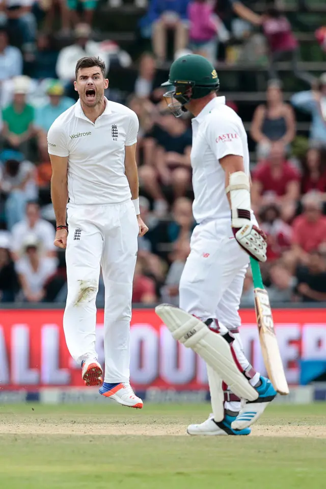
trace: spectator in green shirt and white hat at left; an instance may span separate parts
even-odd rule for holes
[[[2,112],[2,137],[5,148],[16,149],[28,156],[30,142],[34,137],[34,108],[26,104],[26,94],[29,92],[30,79],[28,76],[17,76],[14,81],[14,96],[12,104]]]

